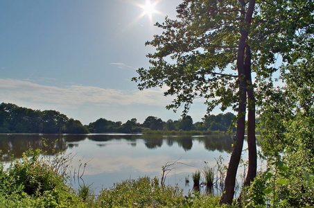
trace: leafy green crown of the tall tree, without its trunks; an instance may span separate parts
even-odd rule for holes
[[[132,80],[139,89],[169,87],[164,95],[175,98],[168,109],[184,105],[186,113],[195,98],[204,97],[209,112],[218,104],[222,110],[230,106],[236,110],[236,80],[241,82],[236,58],[241,33],[248,26],[241,11],[248,2],[183,1],[177,6],[177,19],[166,17],[163,23],[155,24],[164,31],[146,42],[156,49],[147,55],[151,67],[138,69],[139,76]],[[311,1],[256,1],[247,40],[256,73],[254,86],[270,79],[278,69],[272,64],[280,55],[290,60],[298,39],[313,30],[311,11]]]

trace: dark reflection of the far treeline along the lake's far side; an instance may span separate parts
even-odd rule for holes
[[[46,146],[43,144],[45,140]],[[1,160],[8,162],[11,155],[21,158],[28,148],[44,150],[46,155],[54,155],[60,151],[78,148],[80,141],[98,141],[97,146],[105,147],[109,141],[126,141],[132,147],[137,146],[139,139],[144,141],[146,148],[156,149],[163,145],[173,146],[177,144],[184,151],[193,148],[193,141],[202,142],[204,148],[209,151],[231,151],[232,137],[229,135],[210,135],[202,137],[163,136],[163,135],[0,135]]]

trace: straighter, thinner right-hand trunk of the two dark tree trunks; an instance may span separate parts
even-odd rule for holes
[[[251,51],[250,46],[246,46],[245,51],[245,78],[247,80],[247,148],[249,150],[249,168],[243,186],[248,186],[256,177],[257,153],[255,137],[255,97],[251,76]]]

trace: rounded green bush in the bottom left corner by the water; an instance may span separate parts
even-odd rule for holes
[[[28,150],[21,161],[0,170],[0,207],[84,207],[66,178],[59,175],[39,150]]]

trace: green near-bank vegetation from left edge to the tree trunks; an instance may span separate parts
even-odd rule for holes
[[[162,186],[157,178],[125,180],[96,197],[88,186],[71,189],[64,170],[69,155],[58,159],[28,150],[21,160],[0,169],[0,207],[216,207],[219,198],[200,193],[182,194],[179,187]],[[61,163],[60,163],[61,161]]]

